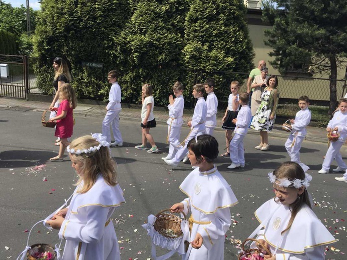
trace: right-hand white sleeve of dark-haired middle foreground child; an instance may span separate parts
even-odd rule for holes
[[[225,233],[231,224],[230,208],[220,208],[215,213],[208,214],[208,216],[212,222],[208,225],[199,225],[197,231],[201,234],[205,247],[211,249],[217,240],[225,237]]]

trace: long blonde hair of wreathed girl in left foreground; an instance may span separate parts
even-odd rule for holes
[[[84,135],[74,139],[70,143],[70,148],[82,150],[98,145],[99,142],[91,135]],[[80,176],[76,185],[80,184],[83,180],[83,186],[77,192],[86,193],[90,190],[99,174],[103,176],[105,182],[110,186],[117,184],[116,163],[110,156],[109,147],[101,146],[99,150],[91,153],[70,153],[70,155],[74,160],[82,162],[82,176]]]

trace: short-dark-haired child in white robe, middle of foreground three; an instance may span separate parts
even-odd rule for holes
[[[188,142],[188,158],[197,166],[183,180],[180,189],[188,196],[172,205],[172,212],[191,212],[190,243],[184,259],[224,259],[225,233],[231,224],[230,206],[238,203],[230,185],[213,164],[218,142],[208,134]]]

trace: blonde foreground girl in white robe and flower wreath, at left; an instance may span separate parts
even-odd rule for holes
[[[106,136],[79,137],[67,150],[79,176],[77,187],[70,205],[46,222],[66,240],[62,260],[119,260],[111,216],[125,201]]]

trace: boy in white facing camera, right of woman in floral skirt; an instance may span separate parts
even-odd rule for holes
[[[311,120],[311,111],[308,109],[308,96],[300,96],[298,101],[301,110],[296,113],[295,119],[290,119],[292,130],[284,146],[290,156],[290,161],[300,163],[301,143],[307,132],[306,126]]]

